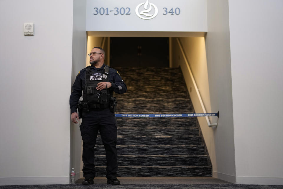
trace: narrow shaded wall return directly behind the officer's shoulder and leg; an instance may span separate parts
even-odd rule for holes
[[[78,72],[85,67],[85,54],[86,54],[86,31],[85,31],[86,9],[85,8],[86,8],[86,0],[74,0],[71,85],[73,85],[75,81],[75,77],[78,75]],[[70,169],[75,168],[76,179],[83,177],[82,145],[83,145],[83,141],[80,135],[79,124],[71,123]]]

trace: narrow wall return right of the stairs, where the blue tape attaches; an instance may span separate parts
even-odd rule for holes
[[[211,110],[219,110],[211,133],[213,177],[236,182],[228,1],[207,1],[205,38]],[[214,118],[214,121],[216,118]],[[207,143],[206,143],[207,144]],[[212,158],[213,160],[213,158]]]

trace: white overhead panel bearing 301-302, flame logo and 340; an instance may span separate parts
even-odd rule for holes
[[[86,30],[207,32],[206,0],[87,0]]]

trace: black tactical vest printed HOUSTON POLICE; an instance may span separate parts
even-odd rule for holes
[[[86,67],[85,86],[83,87],[83,102],[88,102],[89,107],[109,107],[113,91],[109,89],[96,89],[100,82],[108,82],[109,67],[93,72],[90,66]],[[98,106],[100,104],[100,106]],[[93,106],[92,106],[93,105]],[[103,106],[102,106],[103,105]]]

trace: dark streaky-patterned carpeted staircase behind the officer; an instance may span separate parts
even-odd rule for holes
[[[115,68],[127,85],[116,113],[194,113],[179,68]],[[210,159],[196,118],[116,118],[117,176],[212,176]],[[97,176],[106,174],[104,146],[98,134]]]

